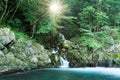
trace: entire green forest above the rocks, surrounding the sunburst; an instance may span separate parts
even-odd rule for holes
[[[57,0],[63,8],[56,15],[49,11],[50,1],[0,0],[0,25],[9,25],[46,48],[58,44],[59,33],[87,48],[83,53],[120,43],[120,0]]]

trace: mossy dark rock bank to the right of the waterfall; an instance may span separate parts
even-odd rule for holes
[[[92,48],[90,51],[87,46],[81,46],[79,42],[75,42],[75,39],[74,45],[67,52],[71,67],[120,66],[120,44],[111,44],[104,49]]]

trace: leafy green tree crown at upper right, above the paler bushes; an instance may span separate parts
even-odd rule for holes
[[[97,12],[92,6],[87,6],[78,15],[78,24],[88,30],[95,30],[95,26],[100,29],[100,26],[108,25],[108,22],[108,16],[104,12]]]

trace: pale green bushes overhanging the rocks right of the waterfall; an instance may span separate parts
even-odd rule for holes
[[[120,43],[119,29],[111,29],[108,26],[102,27],[99,32],[92,32],[81,28],[81,36],[76,36],[72,41],[81,47],[92,48],[93,50],[104,50],[111,45]]]

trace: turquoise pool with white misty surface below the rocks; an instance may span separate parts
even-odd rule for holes
[[[119,68],[48,68],[11,75],[0,80],[120,80]]]

